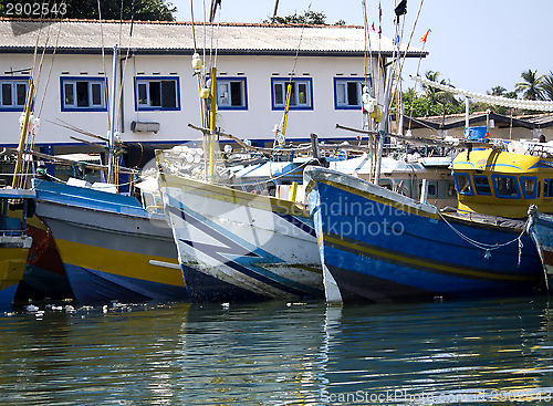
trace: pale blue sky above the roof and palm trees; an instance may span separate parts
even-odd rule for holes
[[[177,21],[190,21],[190,0],[166,0],[177,7]],[[365,0],[369,25],[378,30],[378,0]],[[380,0],[383,35],[394,35],[394,7],[399,0]],[[205,6],[204,6],[205,4]],[[420,4],[422,4],[420,7]],[[194,0],[195,21],[204,21],[204,8],[210,0]],[[221,0],[219,21],[261,22],[272,15],[274,0]],[[420,9],[418,21],[415,20]],[[362,0],[279,0],[278,15],[323,12],[327,23],[345,20],[363,25]],[[420,63],[420,74],[440,72],[440,79],[456,87],[486,93],[494,86],[513,91],[521,73],[536,70],[539,75],[553,72],[552,0],[408,0],[404,42],[414,32],[411,46],[422,48],[420,38],[431,30]],[[418,60],[404,67],[417,73]]]

